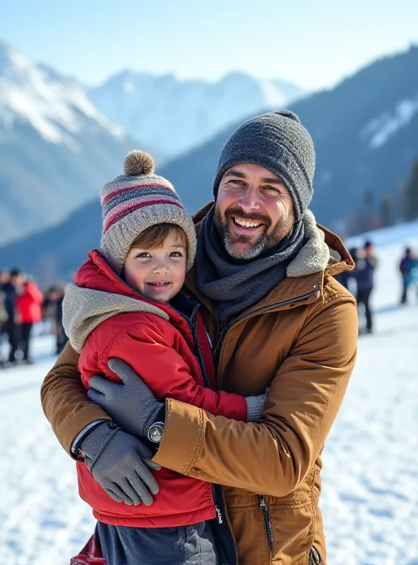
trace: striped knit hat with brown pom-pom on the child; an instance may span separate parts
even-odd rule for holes
[[[141,232],[156,224],[183,228],[189,243],[186,269],[196,256],[196,230],[191,215],[167,179],[155,174],[153,157],[145,151],[131,151],[124,162],[124,174],[107,182],[100,193],[103,232],[100,251],[118,275],[131,245]]]

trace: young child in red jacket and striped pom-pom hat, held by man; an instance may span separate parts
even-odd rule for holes
[[[95,374],[120,381],[109,368],[109,359],[118,358],[160,401],[174,398],[214,415],[258,421],[265,395],[213,390],[215,367],[199,304],[181,293],[196,254],[195,227],[173,186],[154,169],[150,155],[133,151],[125,174],[104,185],[101,251],[90,251],[66,290],[64,328],[80,352],[83,383],[88,388]],[[95,542],[109,565],[228,562],[219,560],[214,541],[213,524],[222,523],[215,485],[162,468],[152,505],[121,504],[95,481],[94,464],[87,456],[77,463],[79,492],[97,518]]]

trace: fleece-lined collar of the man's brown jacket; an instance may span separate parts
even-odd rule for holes
[[[212,206],[213,202],[208,203],[194,216],[193,221],[197,234],[199,233],[203,218],[205,218]],[[302,247],[299,254],[297,254],[287,268],[287,278],[282,280],[260,302],[254,304],[250,309],[241,312],[238,319],[250,315],[258,309],[274,309],[275,305],[279,309],[280,307],[290,307],[292,304],[314,302],[323,296],[323,284],[327,275],[338,275],[354,268],[354,261],[341,239],[333,232],[327,230],[326,227],[316,224],[313,214],[311,214],[311,218],[313,218],[313,221],[309,225],[309,230],[312,231],[314,239],[311,238],[310,241],[314,242],[314,244],[309,246],[308,242],[308,244]],[[316,234],[314,234],[314,231],[316,231]],[[325,242],[329,250],[328,263],[326,261],[323,262],[322,258],[321,267],[319,266],[321,261],[316,263],[316,265],[309,262],[309,256],[316,253],[315,242],[318,243],[320,240]],[[215,304],[198,290],[196,266],[193,266],[186,275],[185,285],[215,316]],[[233,320],[232,323],[234,323]]]

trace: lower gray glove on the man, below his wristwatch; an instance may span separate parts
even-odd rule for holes
[[[125,434],[113,422],[103,422],[80,444],[85,464],[100,487],[116,502],[153,504],[150,492],[160,490],[150,472],[161,467],[153,463],[153,454],[136,437]]]

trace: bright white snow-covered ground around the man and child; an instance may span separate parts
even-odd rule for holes
[[[323,456],[328,564],[418,565],[418,300],[397,306],[396,269],[405,244],[418,249],[418,222],[371,239],[380,260],[376,335],[359,340]],[[52,350],[52,338],[39,337],[35,366],[0,371],[0,565],[68,565],[93,530],[73,463],[40,406]]]

